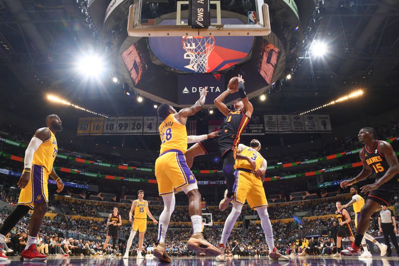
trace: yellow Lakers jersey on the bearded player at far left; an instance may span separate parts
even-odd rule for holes
[[[48,173],[51,173],[55,157],[57,156],[58,147],[57,139],[55,138],[54,134],[50,129],[48,129],[48,131],[50,131],[51,136],[48,140],[43,141],[43,143],[35,151],[32,164],[43,166],[46,168]]]

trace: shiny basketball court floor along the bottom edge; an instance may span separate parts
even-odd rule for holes
[[[157,259],[149,260],[136,260],[135,258],[123,260],[120,257],[116,258],[51,258],[47,262],[21,262],[19,257],[11,257],[6,262],[0,262],[0,266],[3,265],[24,265],[24,266],[39,266],[39,265],[51,265],[51,266],[156,266],[156,265],[171,265],[171,266],[345,266],[345,265],[364,265],[364,266],[399,266],[398,257],[380,257],[375,256],[370,259],[358,260],[357,258],[343,257],[343,258],[332,258],[332,257],[319,257],[319,256],[307,256],[307,257],[292,257],[287,262],[272,262],[263,258],[254,257],[241,257],[239,259],[228,258],[227,262],[220,263],[216,262],[215,258],[201,257],[179,257],[172,258],[172,264],[161,264]]]

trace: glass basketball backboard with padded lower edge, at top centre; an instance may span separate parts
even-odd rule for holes
[[[193,5],[203,1],[208,4],[205,8],[208,12],[194,16],[192,10],[202,9]],[[263,0],[134,0],[129,8],[128,34],[138,37],[265,36],[270,34],[269,10]]]

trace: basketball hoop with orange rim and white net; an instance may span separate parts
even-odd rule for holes
[[[215,38],[213,36],[184,36],[182,45],[187,51],[185,59],[190,59],[190,64],[186,67],[196,72],[206,73],[209,70],[209,54],[215,47]]]

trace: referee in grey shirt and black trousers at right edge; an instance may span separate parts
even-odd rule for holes
[[[388,246],[387,257],[392,256],[389,236],[391,236],[392,243],[396,249],[396,254],[399,256],[399,245],[398,240],[396,239],[397,229],[394,213],[391,210],[388,210],[386,205],[381,205],[381,207],[383,209],[378,217],[378,225],[380,226],[380,232],[384,234],[385,245]]]

